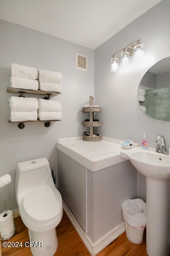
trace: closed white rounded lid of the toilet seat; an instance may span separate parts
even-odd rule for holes
[[[23,207],[36,221],[49,221],[61,211],[62,198],[55,187],[42,186],[26,194]]]

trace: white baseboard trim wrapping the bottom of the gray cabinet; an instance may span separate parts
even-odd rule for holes
[[[82,230],[77,219],[74,217],[65,202],[62,201],[62,203],[65,213],[67,214],[68,218],[70,219],[71,223],[73,224],[74,228],[76,229],[77,233],[81,237],[82,241],[84,242],[85,246],[87,247],[88,251],[92,256],[95,256],[102,249],[108,246],[108,244],[110,244],[113,240],[115,240],[118,236],[125,232],[125,223],[122,222],[94,243],[93,241],[91,241],[90,237]]]

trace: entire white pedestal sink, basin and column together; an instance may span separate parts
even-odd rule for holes
[[[170,156],[152,150],[134,148],[121,156],[146,177],[147,254],[168,256],[167,180],[170,179]]]

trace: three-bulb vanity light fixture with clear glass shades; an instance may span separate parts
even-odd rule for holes
[[[140,39],[128,45],[127,47],[115,52],[111,59],[111,72],[119,70],[119,59],[116,54],[121,53],[121,66],[126,67],[130,62],[130,57],[134,56],[134,59],[139,60],[144,55],[144,45],[140,43]]]

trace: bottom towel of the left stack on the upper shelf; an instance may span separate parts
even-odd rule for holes
[[[11,76],[11,87],[26,90],[38,90],[38,80]]]

